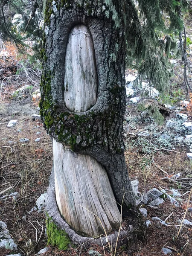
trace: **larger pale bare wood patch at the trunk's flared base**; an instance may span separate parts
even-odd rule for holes
[[[53,155],[56,200],[65,221],[91,237],[119,228],[121,215],[105,168],[93,157],[76,154],[55,140]]]

